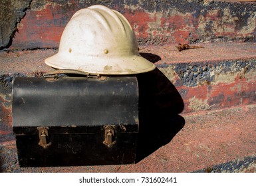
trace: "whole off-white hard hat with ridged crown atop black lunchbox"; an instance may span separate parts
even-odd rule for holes
[[[61,36],[59,52],[45,63],[92,74],[138,74],[156,68],[140,56],[127,19],[102,5],[80,9],[72,16]]]

